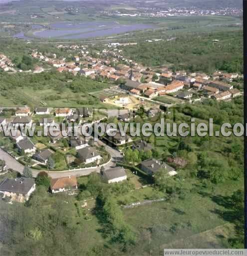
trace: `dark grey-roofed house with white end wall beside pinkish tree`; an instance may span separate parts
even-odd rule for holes
[[[177,172],[175,169],[165,162],[161,162],[154,158],[144,160],[140,163],[140,169],[145,171],[149,175],[154,175],[160,169],[165,169],[168,175],[175,175]]]

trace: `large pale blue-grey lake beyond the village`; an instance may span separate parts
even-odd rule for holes
[[[155,28],[152,24],[119,24],[110,22],[58,22],[50,24],[49,29],[36,31],[33,34],[41,38],[80,39],[98,36],[108,36],[117,33],[124,33],[134,30]]]

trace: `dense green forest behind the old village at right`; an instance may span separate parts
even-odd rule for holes
[[[124,47],[124,54],[144,65],[169,65],[190,72],[215,70],[243,73],[242,30],[179,35],[174,40]],[[213,40],[219,40],[213,41]]]

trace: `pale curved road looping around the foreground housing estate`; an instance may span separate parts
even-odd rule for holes
[[[111,154],[111,157],[112,157],[111,161],[104,165],[105,169],[115,166],[116,165],[115,162],[122,158],[122,155],[118,150],[106,145],[101,140],[95,143],[97,143],[98,145],[104,145],[105,149]],[[2,148],[0,148],[0,159],[5,161],[7,168],[11,168],[13,170],[19,171],[20,173],[23,172],[24,166],[21,163],[19,163],[14,157],[12,157],[7,152],[2,150]],[[77,170],[47,171],[47,172],[50,177],[58,178],[58,177],[65,177],[69,175],[83,176],[83,175],[88,175],[93,171],[99,172],[100,167],[77,169]],[[40,172],[40,170],[32,169],[32,175],[34,177],[37,176],[38,172]]]

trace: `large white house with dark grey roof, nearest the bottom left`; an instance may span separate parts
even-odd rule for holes
[[[9,196],[11,200],[24,202],[28,200],[35,187],[34,178],[5,178],[0,183],[0,193],[3,193],[3,197]]]

